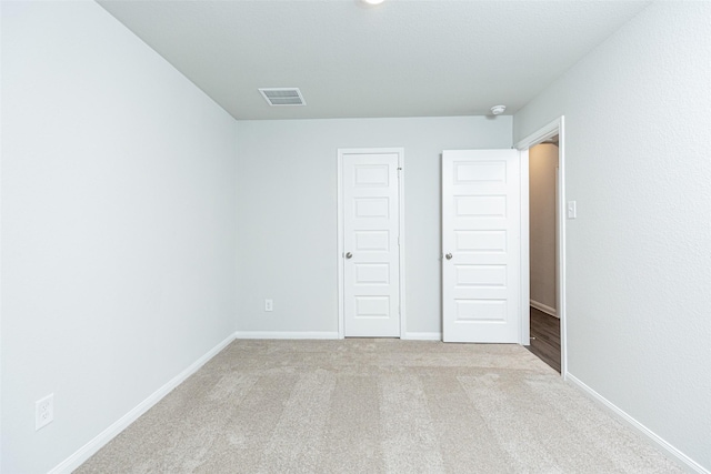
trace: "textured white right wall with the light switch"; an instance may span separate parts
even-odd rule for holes
[[[570,373],[711,470],[711,3],[642,11],[514,138],[561,114]]]

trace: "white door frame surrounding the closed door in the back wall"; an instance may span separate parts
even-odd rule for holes
[[[338,337],[344,339],[344,307],[343,307],[343,155],[344,154],[398,153],[398,201],[399,201],[399,307],[400,307],[400,339],[405,339],[404,311],[404,148],[339,148],[338,149]]]

